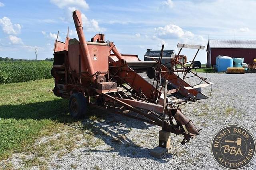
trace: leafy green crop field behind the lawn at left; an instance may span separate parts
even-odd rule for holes
[[[50,79],[50,61],[0,61],[0,84]]]

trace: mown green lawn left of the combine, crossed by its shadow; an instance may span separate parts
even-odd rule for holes
[[[55,97],[53,87],[53,79],[0,85],[0,160],[74,121],[68,100]]]

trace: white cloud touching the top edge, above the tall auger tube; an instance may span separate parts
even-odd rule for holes
[[[85,0],[51,0],[51,2],[59,8],[76,6],[85,10],[89,9],[89,5]]]

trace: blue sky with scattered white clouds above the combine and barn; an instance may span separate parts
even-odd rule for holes
[[[58,30],[77,38],[72,11],[82,12],[86,40],[98,32],[121,53],[176,50],[177,43],[207,45],[210,39],[255,38],[256,0],[0,0],[0,56],[52,58]],[[182,54],[192,59],[195,50]],[[197,60],[206,63],[206,49]]]

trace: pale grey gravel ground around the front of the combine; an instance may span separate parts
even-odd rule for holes
[[[203,73],[199,75],[205,77]],[[222,169],[210,149],[220,128],[240,125],[256,138],[256,74],[208,73],[207,77],[215,83],[211,98],[181,106],[183,113],[202,128],[201,134],[185,145],[180,144],[182,136],[172,134],[171,153],[162,159],[150,156],[150,150],[158,145],[160,127],[110,114],[102,121],[84,121],[108,134],[96,134],[103,144],[74,149],[62,158],[54,154],[48,168],[70,169],[72,165],[76,169]],[[210,90],[207,87],[203,93],[209,95]],[[19,157],[20,154],[14,154],[10,159],[16,168],[20,166]],[[244,169],[256,169],[256,159]]]

